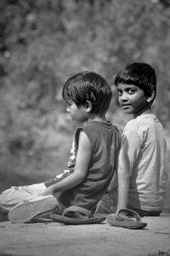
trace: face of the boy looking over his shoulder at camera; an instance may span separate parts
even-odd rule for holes
[[[143,113],[149,106],[144,96],[144,90],[133,84],[117,84],[119,103],[124,113],[133,114],[133,117]]]

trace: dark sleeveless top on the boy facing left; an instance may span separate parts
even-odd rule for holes
[[[111,183],[121,147],[121,135],[111,122],[91,121],[75,133],[75,147],[78,148],[80,131],[88,136],[92,156],[88,173],[82,183],[61,192],[59,201],[65,206],[84,207],[95,211],[98,201]]]

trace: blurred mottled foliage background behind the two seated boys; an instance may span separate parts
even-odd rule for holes
[[[0,191],[65,169],[75,128],[61,96],[66,79],[88,70],[114,84],[130,61],[156,69],[170,211],[169,0],[0,1]],[[116,96],[108,118],[120,131],[129,119]]]

